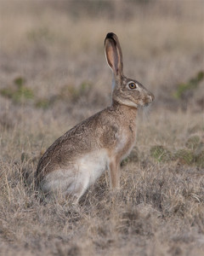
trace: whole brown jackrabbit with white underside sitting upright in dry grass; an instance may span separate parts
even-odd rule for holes
[[[135,143],[138,108],[154,96],[123,75],[122,49],[112,32],[105,38],[105,56],[114,77],[111,107],[67,131],[42,155],[36,183],[46,194],[60,191],[77,203],[106,169],[111,189],[120,187],[120,163]]]

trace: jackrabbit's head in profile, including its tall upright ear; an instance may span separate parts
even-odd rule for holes
[[[105,56],[113,72],[113,102],[138,108],[147,106],[154,101],[154,96],[135,79],[123,75],[122,49],[114,33],[108,33],[105,38]]]

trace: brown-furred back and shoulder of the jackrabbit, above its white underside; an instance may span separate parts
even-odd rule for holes
[[[120,158],[125,156],[132,148],[136,134],[135,117],[126,120],[126,116],[124,109],[105,108],[67,131],[42,155],[37,166],[37,179],[49,172],[67,169],[78,160],[88,160],[88,155],[94,159],[94,152],[101,154],[102,158],[102,151],[109,158],[115,154]],[[97,154],[95,158],[99,159]]]

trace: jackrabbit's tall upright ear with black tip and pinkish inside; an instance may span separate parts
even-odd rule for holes
[[[122,76],[122,49],[114,33],[108,33],[105,38],[105,56],[115,77]]]

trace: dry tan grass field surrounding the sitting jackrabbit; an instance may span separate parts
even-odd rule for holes
[[[150,156],[156,145],[186,150],[194,134],[204,143],[203,81],[173,97],[204,67],[203,8],[202,1],[1,0],[0,90],[10,93],[0,95],[1,255],[203,255],[204,166]],[[139,113],[122,189],[113,194],[105,174],[78,207],[42,201],[33,189],[40,154],[111,102],[103,51],[111,31],[127,75],[156,95],[148,118]],[[16,78],[26,82],[18,87]]]

